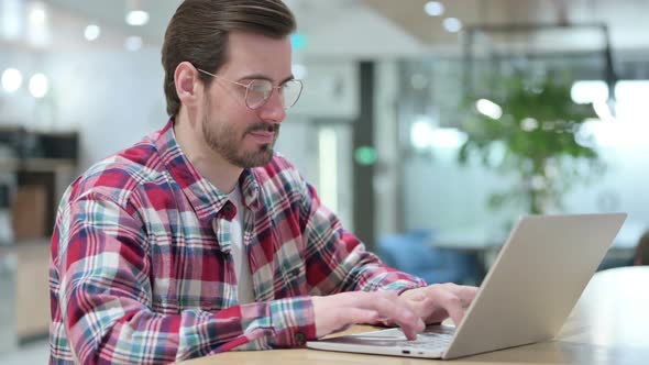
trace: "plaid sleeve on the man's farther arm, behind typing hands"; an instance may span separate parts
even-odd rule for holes
[[[353,290],[404,291],[426,283],[385,265],[339,219],[322,206],[316,189],[304,182],[300,215],[306,243],[307,280],[314,295]]]

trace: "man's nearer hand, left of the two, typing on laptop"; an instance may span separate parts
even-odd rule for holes
[[[408,340],[415,340],[426,325],[396,291],[349,291],[312,297],[316,335],[342,331],[358,323],[388,320],[398,324]]]

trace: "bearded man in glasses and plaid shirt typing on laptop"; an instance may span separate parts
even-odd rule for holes
[[[86,172],[52,239],[52,363],[299,346],[355,323],[409,339],[475,288],[365,252],[273,152],[301,91],[280,0],[186,0],[163,46],[169,122]]]

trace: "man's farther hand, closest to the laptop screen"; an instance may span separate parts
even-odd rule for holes
[[[426,324],[439,323],[450,317],[455,325],[460,325],[476,294],[476,287],[447,283],[406,290],[400,297]]]

